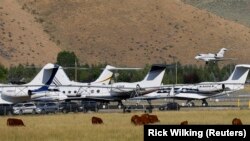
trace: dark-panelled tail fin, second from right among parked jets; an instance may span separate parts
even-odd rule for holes
[[[152,65],[150,71],[141,81],[149,86],[160,86],[165,74],[166,65]]]

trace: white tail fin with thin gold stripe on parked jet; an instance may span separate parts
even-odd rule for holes
[[[111,78],[112,78],[112,75],[113,75],[113,72],[110,71],[111,69],[114,69],[115,67],[113,66],[110,66],[110,65],[107,65],[105,67],[105,69],[103,70],[103,72],[101,73],[101,75],[92,83],[102,83],[102,84],[109,84]]]

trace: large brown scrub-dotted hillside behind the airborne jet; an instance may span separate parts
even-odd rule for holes
[[[250,62],[249,28],[179,0],[17,1],[54,47],[74,51],[81,63],[142,67],[176,56],[182,64],[196,64],[198,53],[222,47],[231,49],[226,57],[237,63]]]

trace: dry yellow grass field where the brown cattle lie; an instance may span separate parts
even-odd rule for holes
[[[134,126],[130,118],[135,113],[78,113],[45,116],[16,116],[25,127],[7,127],[8,117],[0,118],[0,140],[4,141],[142,141],[143,126]],[[188,120],[189,124],[231,124],[238,117],[243,124],[250,124],[250,110],[195,110],[154,112],[158,124],[176,124]],[[103,125],[92,125],[91,117],[98,116]]]

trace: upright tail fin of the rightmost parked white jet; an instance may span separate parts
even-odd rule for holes
[[[232,84],[244,84],[246,82],[249,69],[250,65],[248,64],[236,65],[231,76],[224,82]]]

